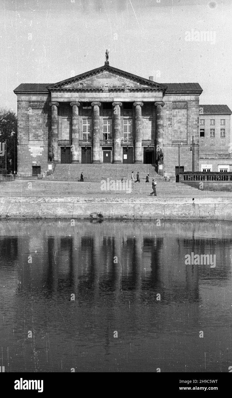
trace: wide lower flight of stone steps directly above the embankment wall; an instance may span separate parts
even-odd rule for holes
[[[218,197],[230,196],[228,192],[201,191],[184,183],[157,180],[157,197]],[[127,187],[127,185],[126,185]],[[15,180],[0,183],[0,197],[147,197],[152,191],[151,181],[131,183],[131,192],[102,190],[101,181],[75,182],[55,180]]]

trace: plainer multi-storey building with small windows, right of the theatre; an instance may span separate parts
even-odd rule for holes
[[[231,113],[227,105],[200,105],[199,171],[232,172]]]

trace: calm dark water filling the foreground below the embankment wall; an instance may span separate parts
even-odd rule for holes
[[[231,326],[231,222],[0,220],[5,372],[228,372]]]

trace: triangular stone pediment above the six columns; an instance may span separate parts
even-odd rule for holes
[[[104,65],[48,86],[48,90],[88,89],[88,88],[151,88],[164,91],[166,86],[152,80],[133,75],[123,70]]]

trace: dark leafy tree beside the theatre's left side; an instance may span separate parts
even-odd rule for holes
[[[13,111],[0,109],[0,142],[6,142],[7,172],[17,172],[17,116]],[[0,156],[0,168],[5,169],[5,156]]]

